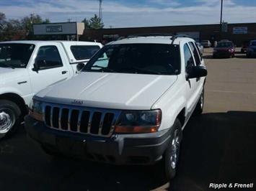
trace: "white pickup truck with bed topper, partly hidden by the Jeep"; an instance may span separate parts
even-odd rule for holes
[[[96,42],[0,42],[0,138],[19,126],[32,96],[73,77],[102,45]]]

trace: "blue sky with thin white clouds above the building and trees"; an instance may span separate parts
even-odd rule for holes
[[[154,27],[216,24],[221,0],[102,0],[103,22],[110,27]],[[1,0],[8,19],[31,13],[50,22],[81,22],[99,12],[98,0]],[[256,22],[256,0],[224,0],[223,19],[229,23]]]

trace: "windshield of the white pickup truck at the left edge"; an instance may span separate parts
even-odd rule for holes
[[[0,67],[27,67],[34,48],[31,44],[0,44]]]

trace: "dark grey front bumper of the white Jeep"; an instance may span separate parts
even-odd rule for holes
[[[112,164],[154,164],[167,149],[170,129],[151,134],[113,134],[110,138],[50,129],[25,117],[28,136],[56,154]]]

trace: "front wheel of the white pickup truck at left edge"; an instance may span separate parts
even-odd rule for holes
[[[20,115],[21,111],[16,103],[0,100],[0,139],[17,129]]]

